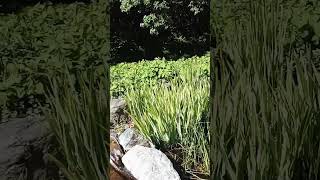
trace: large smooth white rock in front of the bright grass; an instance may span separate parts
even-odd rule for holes
[[[122,162],[138,180],[180,180],[168,157],[155,148],[136,145],[122,157]]]

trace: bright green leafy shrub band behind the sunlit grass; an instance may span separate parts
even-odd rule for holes
[[[112,96],[122,96],[129,87],[139,88],[143,84],[155,85],[160,81],[170,81],[180,76],[184,69],[199,70],[200,78],[209,77],[209,54],[202,57],[166,61],[140,61],[135,63],[120,63],[111,66]]]

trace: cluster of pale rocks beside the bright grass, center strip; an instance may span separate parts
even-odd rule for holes
[[[114,100],[113,102],[117,102],[117,105],[112,106],[114,108],[112,112],[125,112],[124,109],[115,108],[126,107],[124,101]],[[116,120],[112,120],[112,122],[115,123]],[[123,166],[116,168],[128,171],[137,180],[180,180],[179,174],[168,157],[156,149],[154,144],[139,134],[136,129],[127,128],[119,135],[111,130],[111,136],[119,143],[118,150],[113,149],[113,151],[124,153],[120,160],[119,153],[112,154],[111,151],[111,157],[115,156],[113,159],[121,161],[115,163]]]

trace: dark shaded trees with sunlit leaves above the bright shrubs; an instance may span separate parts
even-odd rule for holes
[[[207,0],[114,0],[111,18],[113,62],[178,59],[209,50]]]

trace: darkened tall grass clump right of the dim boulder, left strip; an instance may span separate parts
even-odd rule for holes
[[[88,70],[49,79],[47,118],[64,159],[50,158],[67,179],[108,179],[109,77]]]

